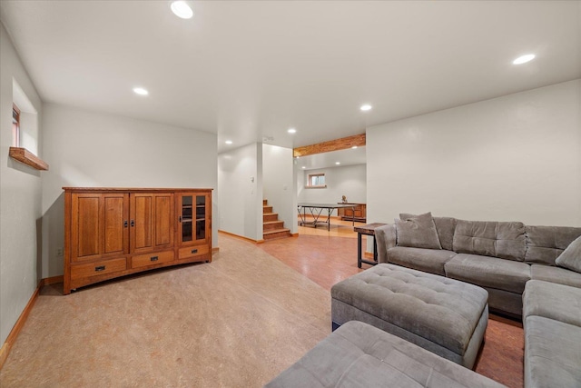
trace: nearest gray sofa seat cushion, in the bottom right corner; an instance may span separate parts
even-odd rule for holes
[[[581,386],[581,327],[529,315],[525,324],[525,386]]]

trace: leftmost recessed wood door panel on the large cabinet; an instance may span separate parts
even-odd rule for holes
[[[73,209],[73,224],[76,225],[74,231],[77,232],[74,238],[74,257],[91,256],[101,254],[99,249],[99,203],[100,196],[75,197]]]

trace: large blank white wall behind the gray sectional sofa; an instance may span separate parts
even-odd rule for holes
[[[367,129],[368,221],[581,226],[581,80]]]

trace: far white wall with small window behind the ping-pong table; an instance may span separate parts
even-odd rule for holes
[[[305,188],[309,174],[325,173],[326,188]],[[354,164],[317,170],[300,170],[298,173],[299,202],[317,204],[336,204],[341,202],[343,195],[353,204],[367,202],[367,166]],[[337,214],[334,211],[333,214]]]

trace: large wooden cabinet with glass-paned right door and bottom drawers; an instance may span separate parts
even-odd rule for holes
[[[64,293],[212,261],[212,189],[64,187]]]

